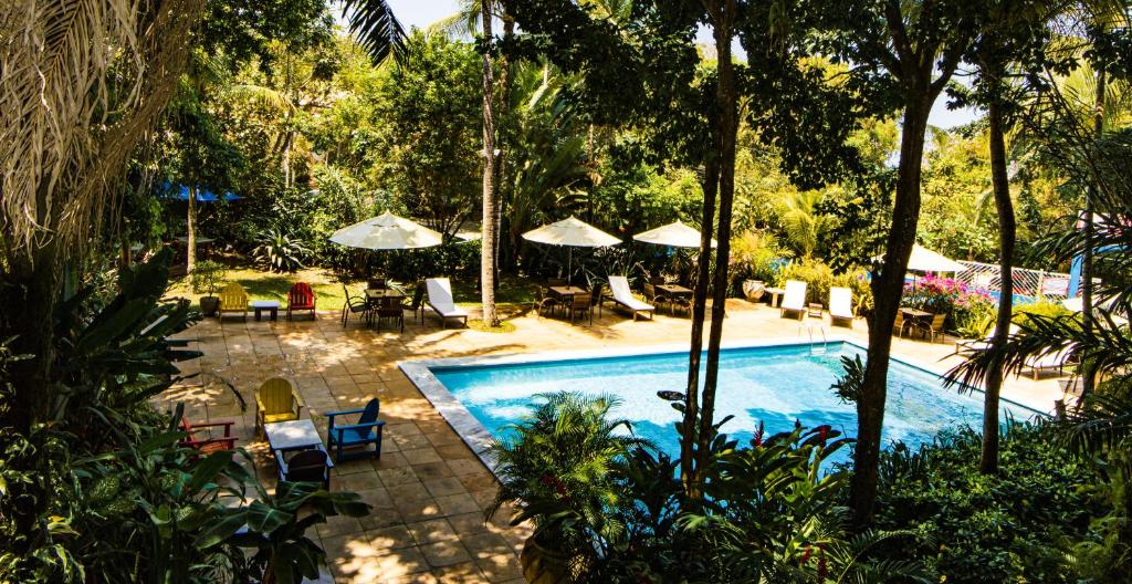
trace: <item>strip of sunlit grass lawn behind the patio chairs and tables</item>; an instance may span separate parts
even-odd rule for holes
[[[230,267],[225,274],[223,287],[228,283],[238,282],[248,291],[251,300],[278,300],[282,306],[286,306],[286,293],[295,282],[306,282],[315,290],[319,310],[340,310],[345,303],[345,295],[342,290],[342,281],[333,272],[323,268],[306,268],[293,274],[276,274],[257,266]],[[366,287],[365,281],[353,281],[348,284],[354,294],[361,294]],[[453,278],[453,293],[456,303],[463,306],[478,306],[480,302],[479,286],[475,281],[464,278]],[[412,285],[405,286],[412,294]],[[496,301],[504,308],[513,311],[518,308],[529,308],[538,295],[539,285],[535,281],[526,277],[504,277],[496,293]],[[218,294],[218,291],[217,291]],[[204,292],[190,290],[187,277],[174,280],[170,285],[169,297],[183,297],[198,303]]]

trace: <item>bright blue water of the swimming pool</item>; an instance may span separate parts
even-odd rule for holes
[[[842,404],[830,386],[842,375],[841,357],[864,351],[849,343],[831,343],[824,354],[809,354],[805,345],[724,350],[715,419],[735,415],[722,431],[746,444],[765,424],[767,435],[804,426],[830,424],[852,437],[857,414]],[[633,422],[636,433],[678,456],[674,423],[679,413],[657,397],[657,392],[683,392],[687,383],[687,354],[663,353],[517,364],[434,367],[432,373],[492,436],[532,410],[534,396],[558,390],[610,394],[621,400],[615,414]],[[900,440],[912,448],[946,428],[980,428],[981,393],[960,394],[943,388],[933,373],[893,361],[884,415],[885,441]],[[1006,414],[1022,420],[1035,414],[1004,402]],[[848,460],[848,449],[839,460]]]

